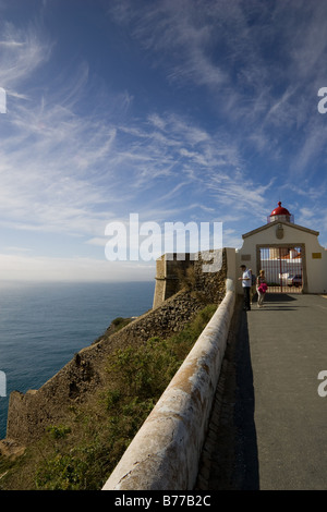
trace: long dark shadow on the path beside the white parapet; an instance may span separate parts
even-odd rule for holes
[[[238,300],[196,489],[258,490],[254,388],[246,313]]]

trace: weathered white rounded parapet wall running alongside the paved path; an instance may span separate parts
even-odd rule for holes
[[[102,490],[191,490],[206,436],[235,293],[227,293]]]

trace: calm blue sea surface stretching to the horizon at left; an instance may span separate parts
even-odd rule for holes
[[[0,439],[11,391],[40,388],[111,320],[150,309],[154,291],[154,281],[0,283]]]

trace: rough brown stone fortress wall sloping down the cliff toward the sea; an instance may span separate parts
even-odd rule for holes
[[[226,255],[221,269],[203,272],[202,261],[194,265],[193,276],[183,290],[133,320],[120,331],[105,333],[80,351],[58,374],[38,390],[10,395],[7,438],[28,444],[40,438],[48,425],[62,422],[74,404],[88,400],[106,385],[107,359],[118,348],[137,345],[154,336],[168,337],[181,330],[208,303],[220,303],[225,296]],[[182,285],[181,284],[181,285]]]

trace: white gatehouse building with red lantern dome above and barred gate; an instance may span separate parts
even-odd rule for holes
[[[318,235],[295,224],[279,202],[265,225],[242,235],[237,266],[244,264],[256,275],[265,270],[270,292],[327,293],[327,251]]]

